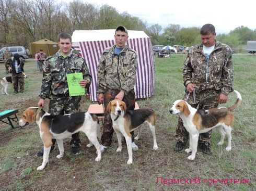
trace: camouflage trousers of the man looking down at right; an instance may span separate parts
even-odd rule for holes
[[[194,97],[193,93],[190,93],[190,96],[188,98],[188,103],[193,107],[197,109],[211,109],[218,106],[218,95],[221,93],[220,90],[206,90],[202,91],[199,94],[195,94],[195,103],[194,103]],[[183,100],[187,99],[187,95],[184,95]],[[210,142],[212,135],[212,131],[208,131],[206,133],[199,134],[199,143],[202,142]],[[178,125],[176,129],[176,134],[174,135],[177,139],[177,142],[182,142],[186,144],[189,139],[189,133],[183,126],[183,122],[181,118],[178,119]]]

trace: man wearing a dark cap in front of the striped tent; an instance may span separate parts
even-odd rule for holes
[[[127,109],[135,107],[134,83],[136,78],[137,55],[135,50],[125,45],[128,40],[127,29],[119,26],[114,34],[115,44],[104,50],[97,71],[98,101],[107,106],[113,99],[123,100]],[[103,132],[101,136],[101,152],[112,143],[114,130],[110,113],[104,111]],[[132,148],[138,150],[132,134]]]

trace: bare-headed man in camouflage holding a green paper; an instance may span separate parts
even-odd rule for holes
[[[82,87],[88,88],[91,82],[91,75],[85,60],[73,54],[71,35],[59,34],[58,44],[59,52],[43,62],[43,79],[38,101],[38,107],[43,107],[44,99],[49,98],[49,113],[54,115],[79,111],[81,96],[69,96],[67,74],[82,72],[83,80],[79,81]],[[55,141],[52,139],[51,150],[54,149]],[[74,154],[78,154],[81,150],[79,133],[72,135],[70,144]],[[38,152],[37,156],[43,156],[43,149]]]

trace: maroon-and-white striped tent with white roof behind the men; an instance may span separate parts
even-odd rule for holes
[[[103,50],[112,46],[114,29],[108,30],[79,30],[72,35],[73,46],[86,60],[92,81],[90,85],[90,100],[97,101],[97,69]],[[128,31],[127,45],[134,49],[138,56],[137,73],[134,84],[136,99],[150,97],[155,88],[155,61],[152,45],[144,31]]]

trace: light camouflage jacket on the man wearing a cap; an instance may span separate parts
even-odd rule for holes
[[[98,91],[104,88],[123,91],[125,94],[134,88],[137,55],[135,50],[125,45],[119,55],[114,54],[115,45],[106,48],[101,55],[97,72]]]

